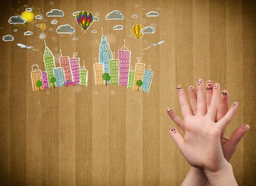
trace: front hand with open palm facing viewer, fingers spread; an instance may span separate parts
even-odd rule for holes
[[[179,126],[184,129],[185,135],[183,139],[174,127],[170,128],[170,135],[189,164],[193,167],[214,172],[221,170],[228,163],[224,158],[220,139],[226,125],[236,113],[238,103],[234,102],[228,113],[216,122],[220,100],[220,84],[214,84],[212,89],[212,96],[210,97],[210,94],[207,94],[205,98],[203,80],[198,80],[197,95],[191,94],[193,104],[190,107],[183,88],[177,86],[177,94],[184,118],[183,122],[179,121],[177,123],[180,123]],[[209,109],[207,110],[207,108]],[[175,113],[172,114],[175,115]],[[175,116],[172,118],[174,120],[178,119]]]

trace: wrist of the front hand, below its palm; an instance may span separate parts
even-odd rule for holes
[[[212,186],[238,185],[234,177],[232,165],[227,161],[224,163],[224,165],[220,170],[217,170],[217,171],[204,170],[204,173],[207,176]]]

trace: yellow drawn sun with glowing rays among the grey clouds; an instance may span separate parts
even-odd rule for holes
[[[30,8],[31,11],[26,11],[26,9]],[[35,26],[37,19],[35,19],[36,15],[40,15],[40,9],[39,8],[35,8],[34,5],[30,6],[30,5],[24,5],[22,7],[20,7],[19,9],[17,9],[14,13],[15,16],[21,15],[22,18],[26,19],[26,23],[24,24],[16,24],[19,27],[26,27],[26,28],[32,28]]]

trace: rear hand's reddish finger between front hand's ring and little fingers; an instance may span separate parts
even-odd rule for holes
[[[223,90],[220,96],[220,105],[218,107],[216,122],[220,121],[220,119],[224,117],[224,115],[228,112],[228,110],[229,110],[228,91]]]

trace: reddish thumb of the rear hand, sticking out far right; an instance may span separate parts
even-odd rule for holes
[[[243,124],[240,127],[238,127],[230,136],[230,139],[228,141],[229,148],[232,150],[236,150],[237,144],[242,139],[243,135],[250,129],[250,126],[247,124]]]

